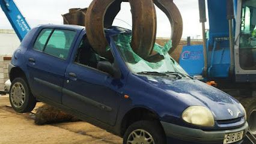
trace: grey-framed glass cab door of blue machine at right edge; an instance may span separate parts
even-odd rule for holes
[[[235,43],[236,80],[256,82],[255,0],[244,0],[237,3]]]

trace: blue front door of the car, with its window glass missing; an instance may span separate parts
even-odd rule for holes
[[[95,64],[81,64],[84,61],[78,61],[78,55],[80,52],[82,53],[81,47],[84,45],[82,41],[78,44],[80,47],[74,60],[70,62],[66,70],[62,104],[91,118],[114,125],[121,98],[117,92],[118,86],[114,86],[114,79],[109,74],[97,70]],[[84,43],[87,42],[84,41]],[[91,52],[90,50],[85,51]],[[88,53],[82,55],[81,58],[90,56]],[[90,56],[88,61],[93,57]]]

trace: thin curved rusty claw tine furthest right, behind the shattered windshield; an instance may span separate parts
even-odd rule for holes
[[[183,33],[183,20],[180,11],[173,0],[154,0],[154,4],[166,14],[171,23],[172,48],[169,50],[169,53],[172,53],[180,43]]]

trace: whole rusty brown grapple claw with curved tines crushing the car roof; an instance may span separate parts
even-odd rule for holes
[[[153,47],[156,41],[156,8],[162,10],[171,23],[172,53],[180,42],[183,32],[183,22],[180,11],[172,0],[93,0],[90,7],[73,8],[64,14],[64,24],[85,26],[87,38],[93,49],[102,56],[106,52],[108,41],[105,38],[105,28],[112,26],[115,17],[121,10],[121,2],[129,2],[132,13],[132,49],[143,59],[154,59]]]

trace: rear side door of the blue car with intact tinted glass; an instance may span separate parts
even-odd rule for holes
[[[66,29],[41,30],[26,55],[34,95],[61,103],[67,59],[75,35],[76,31]]]

